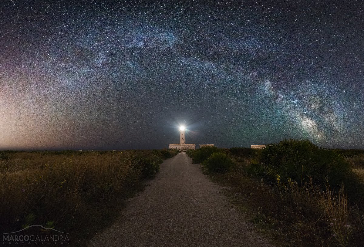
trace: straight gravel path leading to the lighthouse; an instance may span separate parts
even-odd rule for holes
[[[258,246],[272,247],[251,224],[226,207],[215,185],[186,153],[165,160],[154,180],[131,198],[120,219],[89,247]]]

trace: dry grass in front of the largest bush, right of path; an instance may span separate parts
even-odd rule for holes
[[[213,179],[232,185],[245,198],[239,208],[255,211],[253,221],[277,246],[362,246],[363,207],[349,203],[343,191],[334,193],[312,183],[277,183],[271,187],[246,172],[248,158],[236,159],[236,170],[214,174]],[[361,205],[362,206],[362,205]]]

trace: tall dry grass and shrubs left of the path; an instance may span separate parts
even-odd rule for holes
[[[67,246],[85,246],[119,215],[123,199],[141,191],[143,179],[153,179],[159,164],[177,153],[0,151],[0,233],[42,225],[70,233]]]

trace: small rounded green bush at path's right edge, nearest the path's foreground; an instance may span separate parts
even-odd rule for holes
[[[234,166],[234,162],[226,153],[212,153],[207,160],[201,163],[208,173],[225,173]]]

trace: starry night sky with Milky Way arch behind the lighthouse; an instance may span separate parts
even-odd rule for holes
[[[1,1],[0,149],[363,149],[363,1],[236,2]]]

